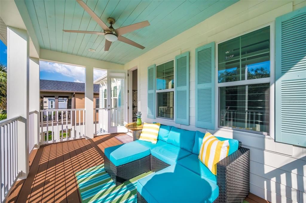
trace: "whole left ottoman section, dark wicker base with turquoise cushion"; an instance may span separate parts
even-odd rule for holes
[[[104,150],[105,171],[116,186],[150,171],[150,149],[136,142],[125,143]]]

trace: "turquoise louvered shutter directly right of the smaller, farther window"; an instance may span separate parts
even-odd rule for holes
[[[175,122],[189,125],[189,52],[175,57]]]

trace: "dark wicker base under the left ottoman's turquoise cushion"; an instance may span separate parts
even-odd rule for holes
[[[115,166],[104,155],[105,171],[113,179],[116,186],[121,185],[126,180],[139,176],[140,174],[150,171],[150,155],[136,161],[129,162],[121,166]]]

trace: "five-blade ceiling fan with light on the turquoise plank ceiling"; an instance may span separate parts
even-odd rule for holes
[[[145,47],[137,44],[136,42],[133,42],[132,40],[125,38],[121,36],[122,34],[126,34],[128,32],[132,32],[134,30],[138,30],[140,28],[149,26],[150,23],[149,21],[143,21],[140,23],[135,23],[132,25],[128,25],[125,27],[120,27],[118,29],[113,28],[113,24],[115,23],[114,18],[108,18],[107,21],[110,24],[110,27],[107,27],[107,25],[82,1],[82,0],[76,0],[83,9],[94,19],[103,29],[104,32],[95,32],[95,31],[79,31],[79,30],[63,30],[64,32],[76,32],[76,33],[88,33],[88,34],[100,34],[104,35],[105,37],[105,46],[104,46],[104,51],[108,51],[110,49],[110,45],[112,42],[115,41],[121,41],[124,43],[127,43],[129,45],[135,46],[140,49],[144,49]]]

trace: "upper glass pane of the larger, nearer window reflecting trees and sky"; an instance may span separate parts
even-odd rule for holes
[[[218,83],[268,77],[269,26],[218,44]]]

